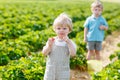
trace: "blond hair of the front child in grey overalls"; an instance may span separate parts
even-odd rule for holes
[[[68,17],[67,14],[65,13],[61,13],[55,20],[54,20],[54,23],[53,23],[53,29],[55,30],[55,28],[57,26],[60,26],[60,27],[68,27],[69,28],[69,31],[71,32],[72,31],[72,20],[70,17]]]

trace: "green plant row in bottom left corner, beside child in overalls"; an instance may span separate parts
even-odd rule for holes
[[[3,80],[42,80],[44,70],[44,57],[41,53],[32,53],[29,57],[11,61],[0,72]]]

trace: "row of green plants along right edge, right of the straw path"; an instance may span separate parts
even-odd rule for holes
[[[120,47],[120,43],[118,44]],[[92,80],[119,80],[120,79],[120,50],[110,55],[112,63],[107,65],[101,72],[93,73]],[[117,58],[117,60],[114,60]]]

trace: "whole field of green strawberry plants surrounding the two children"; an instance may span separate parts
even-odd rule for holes
[[[73,32],[69,37],[77,44],[77,55],[71,58],[70,66],[86,70],[83,24],[91,15],[90,4],[89,1],[1,1],[0,77],[3,80],[43,80],[46,57],[42,55],[41,50],[47,39],[55,36],[52,23],[62,12],[69,14],[73,21]],[[109,24],[109,30],[105,33],[107,36],[120,30],[120,4],[103,5],[103,16]],[[119,60],[106,68],[111,69],[111,77],[108,80],[120,79],[118,63]],[[115,66],[115,69],[112,66]],[[105,80],[101,75],[106,73],[105,71],[94,75],[93,80],[96,77],[99,77],[98,80]],[[104,77],[110,76],[109,74]]]

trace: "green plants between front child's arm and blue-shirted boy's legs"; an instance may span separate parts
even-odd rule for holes
[[[80,33],[79,33],[80,34]],[[70,61],[70,67],[71,69],[74,68],[79,68],[82,71],[87,69],[87,60],[85,57],[85,43],[81,40],[81,38],[77,36],[76,39],[73,39],[76,44],[77,44],[77,53],[76,56],[74,58],[71,58]]]

